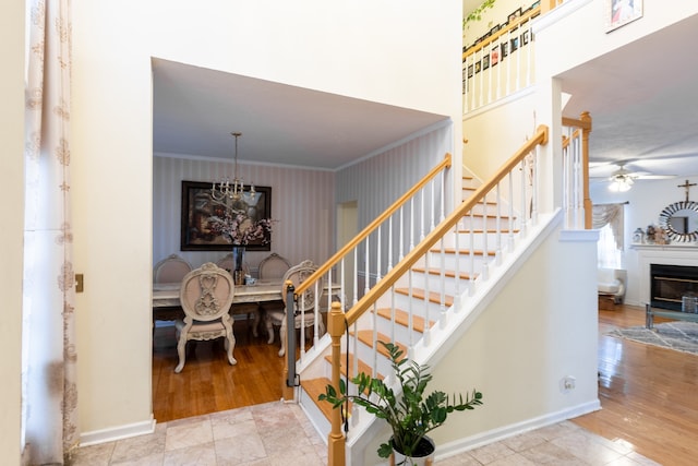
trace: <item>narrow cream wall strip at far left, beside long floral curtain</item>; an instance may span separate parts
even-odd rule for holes
[[[22,347],[22,243],[24,230],[24,2],[8,2],[0,14],[0,452],[20,464]]]

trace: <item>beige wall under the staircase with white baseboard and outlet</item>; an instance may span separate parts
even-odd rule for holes
[[[440,458],[599,408],[595,235],[568,238],[561,226],[557,216],[435,350],[430,390],[483,394],[483,406],[430,433]],[[568,392],[566,377],[576,383]],[[363,464],[389,435],[384,428],[369,441]]]

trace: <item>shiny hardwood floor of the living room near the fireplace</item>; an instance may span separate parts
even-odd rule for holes
[[[617,308],[599,311],[602,409],[573,421],[660,464],[698,464],[698,356],[604,336],[645,325],[643,308]]]

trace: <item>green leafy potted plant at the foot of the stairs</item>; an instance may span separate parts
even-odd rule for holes
[[[387,458],[396,452],[405,459],[399,462],[396,455],[395,464],[414,464],[413,458],[428,457],[434,452],[434,443],[426,433],[442,426],[450,413],[482,405],[482,393],[473,390],[465,401],[462,395],[458,395],[458,403],[455,403],[455,395],[452,401],[441,391],[425,395],[426,385],[432,380],[429,367],[402,358],[404,351],[392,343],[378,343],[388,351],[401,395],[396,394],[384,380],[361,372],[351,379],[357,386],[356,395],[348,393],[347,384],[340,379],[339,393],[333,385],[327,385],[318,399],[330,403],[335,409],[352,402],[385,419],[393,429],[393,437],[381,444],[378,456]]]

